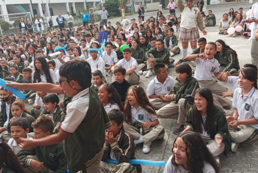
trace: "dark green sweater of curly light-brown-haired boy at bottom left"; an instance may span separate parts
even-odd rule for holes
[[[37,156],[43,165],[53,170],[55,173],[66,172],[67,163],[66,156],[63,152],[63,143],[58,143],[48,146],[38,146],[34,147],[32,150],[21,149],[17,154],[19,161],[25,166],[30,166],[29,163],[31,158],[27,156]]]

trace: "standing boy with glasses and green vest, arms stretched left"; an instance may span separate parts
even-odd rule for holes
[[[92,76],[90,64],[81,60],[70,60],[61,66],[59,73],[59,86],[43,83],[11,84],[19,89],[41,89],[52,93],[65,93],[68,97],[73,97],[67,106],[66,118],[57,134],[47,138],[23,140],[22,146],[30,148],[39,145],[53,145],[65,140],[63,146],[70,172],[80,170],[101,172],[99,163],[105,142],[105,128],[109,128],[111,124],[97,93],[90,89]],[[10,86],[10,84],[8,85]],[[51,87],[46,88],[46,86]],[[96,127],[98,128],[96,129]]]

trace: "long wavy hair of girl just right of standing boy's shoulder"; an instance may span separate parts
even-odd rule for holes
[[[101,86],[105,87],[108,93],[111,93],[110,98],[108,98],[108,102],[110,102],[111,104],[117,104],[119,106],[120,111],[123,111],[123,104],[121,102],[121,97],[117,89],[115,89],[115,87],[111,84],[102,84]]]

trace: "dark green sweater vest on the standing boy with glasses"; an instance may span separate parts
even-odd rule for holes
[[[89,108],[85,118],[74,133],[64,140],[64,152],[70,172],[85,170],[105,143],[105,129],[111,127],[110,120],[97,93],[90,88]]]

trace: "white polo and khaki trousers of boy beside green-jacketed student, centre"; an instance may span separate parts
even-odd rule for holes
[[[163,84],[161,84],[161,82],[159,82],[156,77],[150,81],[146,92],[148,97],[150,97],[150,95],[167,95],[174,91],[174,86],[175,80],[171,76],[168,76]],[[161,100],[161,98],[150,98],[150,103],[156,109],[161,109],[161,107],[169,104],[170,102],[164,102],[163,100]]]

